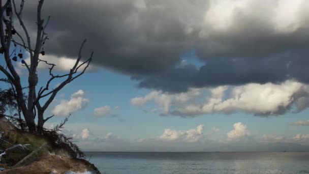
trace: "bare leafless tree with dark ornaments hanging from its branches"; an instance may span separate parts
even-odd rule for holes
[[[44,3],[44,0],[40,0],[37,7],[37,32],[36,32],[36,40],[35,43],[32,43],[30,40],[30,36],[22,19],[22,12],[24,8],[24,0],[21,0],[20,7],[16,6],[14,0],[6,0],[0,1],[0,40],[1,40],[1,48],[0,53],[4,55],[5,66],[0,66],[0,71],[2,71],[7,79],[11,82],[13,90],[15,91],[16,101],[20,110],[22,112],[23,118],[27,124],[29,131],[36,132],[43,130],[44,123],[53,117],[44,117],[44,112],[53,101],[57,93],[64,88],[64,86],[80,75],[82,75],[85,70],[88,68],[92,54],[90,57],[82,62],[81,61],[81,50],[83,48],[84,40],[79,48],[78,57],[75,62],[75,65],[72,67],[70,72],[63,75],[55,75],[53,74],[53,68],[56,66],[54,64],[50,64],[47,61],[43,61],[40,59],[40,55],[44,55],[45,52],[43,50],[44,43],[48,40],[48,36],[45,33],[45,29],[48,25],[48,21],[50,17],[44,21],[41,17],[41,9]],[[22,31],[17,31],[14,27],[13,16],[17,17],[17,21],[19,22]],[[22,36],[25,36],[24,38]],[[30,55],[30,64],[28,65],[25,61],[21,61],[23,66],[26,67],[28,71],[28,86],[27,86],[27,99],[24,98],[25,89],[22,88],[22,84],[20,81],[20,76],[16,72],[16,68],[13,66],[12,61],[17,61],[16,55],[12,57],[13,53],[10,51],[13,50],[12,45],[16,47],[16,45],[22,46],[25,51],[29,52]],[[34,48],[34,49],[33,49]],[[16,51],[16,48],[15,48]],[[18,54],[21,58],[22,54]],[[47,81],[46,85],[37,87],[38,84],[38,65],[39,63],[44,63],[50,66],[49,75],[50,79]],[[80,70],[79,70],[80,69]],[[54,89],[50,90],[50,83],[55,80],[63,78],[64,80]],[[39,89],[39,90],[37,90]],[[44,103],[41,103],[43,98]],[[38,116],[37,126],[35,123],[36,116]]]

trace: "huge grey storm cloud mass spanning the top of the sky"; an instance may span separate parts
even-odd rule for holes
[[[83,53],[94,50],[96,65],[132,76],[141,88],[172,93],[291,78],[308,83],[309,3],[281,14],[282,1],[239,2],[243,8],[231,10],[232,1],[46,1],[51,21],[45,50],[74,57],[88,38]],[[26,2],[28,25],[35,22],[36,3]],[[192,49],[205,65],[176,67]]]

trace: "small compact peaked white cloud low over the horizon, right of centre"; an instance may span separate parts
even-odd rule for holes
[[[234,129],[227,133],[229,141],[239,141],[241,138],[248,137],[251,133],[248,131],[247,126],[241,122],[233,125]]]

